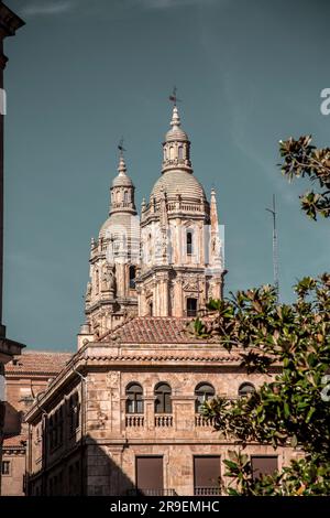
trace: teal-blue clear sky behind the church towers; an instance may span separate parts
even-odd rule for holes
[[[84,322],[89,244],[107,218],[125,138],[136,202],[161,174],[173,85],[196,176],[218,193],[227,292],[272,282],[278,204],[280,296],[329,270],[329,222],[299,209],[278,140],[329,145],[327,1],[8,0],[26,22],[6,41],[8,334],[74,350]]]

